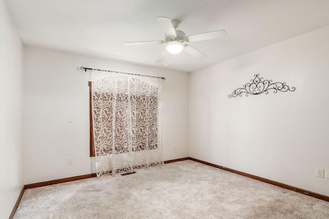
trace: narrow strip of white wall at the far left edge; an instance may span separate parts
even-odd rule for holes
[[[0,1],[0,218],[8,218],[23,188],[22,44]]]

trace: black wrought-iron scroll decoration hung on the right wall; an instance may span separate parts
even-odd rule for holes
[[[246,96],[248,94],[257,95],[261,93],[268,94],[269,90],[273,90],[273,93],[277,93],[278,91],[286,92],[286,91],[294,91],[296,88],[292,87],[291,89],[286,85],[286,83],[275,82],[272,83],[272,80],[264,80],[263,77],[259,77],[259,74],[254,75],[255,78],[251,79],[251,83],[247,83],[243,85],[242,88],[237,88],[233,90],[232,94],[228,95],[229,98],[235,97],[237,95],[242,96],[245,93]]]

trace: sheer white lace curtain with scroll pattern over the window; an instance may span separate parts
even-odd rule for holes
[[[163,165],[161,79],[92,73],[97,176]]]

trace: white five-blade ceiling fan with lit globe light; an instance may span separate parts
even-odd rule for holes
[[[196,41],[206,41],[208,39],[223,38],[226,36],[225,30],[216,30],[207,33],[199,33],[195,35],[186,36],[186,34],[181,30],[176,30],[180,21],[174,19],[170,21],[169,17],[157,17],[156,18],[165,31],[165,41],[143,41],[143,42],[127,42],[124,43],[126,46],[134,45],[145,45],[145,44],[167,44],[166,49],[163,50],[162,54],[156,59],[155,62],[160,63],[166,57],[166,50],[171,54],[177,54],[184,49],[185,52],[191,54],[192,56],[204,59],[207,57],[206,54],[200,52],[199,50],[193,48],[190,45],[183,44],[184,42],[196,42]]]

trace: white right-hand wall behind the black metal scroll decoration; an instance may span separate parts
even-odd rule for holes
[[[189,156],[329,195],[329,26],[190,74]],[[220,52],[220,51],[219,51]],[[228,98],[260,74],[294,92]]]

